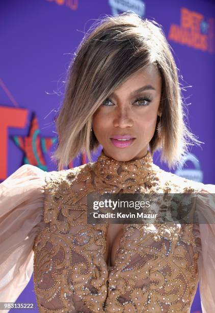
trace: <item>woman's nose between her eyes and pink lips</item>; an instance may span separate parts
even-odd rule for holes
[[[133,126],[131,111],[128,108],[118,107],[113,120],[114,127],[126,128]]]

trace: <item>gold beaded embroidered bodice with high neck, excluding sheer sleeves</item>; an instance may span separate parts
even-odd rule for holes
[[[150,152],[46,174],[44,222],[34,243],[40,312],[189,312],[198,284],[192,225],[124,225],[115,266],[105,262],[106,224],[87,224],[90,192],[196,192],[155,166]]]

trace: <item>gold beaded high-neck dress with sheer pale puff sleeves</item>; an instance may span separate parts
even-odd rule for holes
[[[111,266],[109,223],[87,223],[93,192],[198,193],[205,223],[124,224]],[[119,162],[102,150],[52,172],[23,165],[0,185],[0,302],[16,301],[34,272],[39,312],[190,312],[198,282],[203,312],[214,312],[214,201],[214,185],[160,169],[149,151]]]

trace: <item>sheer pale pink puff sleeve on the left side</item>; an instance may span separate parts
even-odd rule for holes
[[[23,165],[0,184],[0,302],[15,302],[32,276],[46,173]]]

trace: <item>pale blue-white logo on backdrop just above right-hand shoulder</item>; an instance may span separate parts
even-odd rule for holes
[[[184,169],[183,167],[187,161],[192,162],[195,168]],[[175,171],[175,174],[180,177],[184,177],[187,180],[192,180],[199,183],[202,183],[203,181],[203,172],[200,169],[199,161],[192,153],[185,155],[181,166]]]

